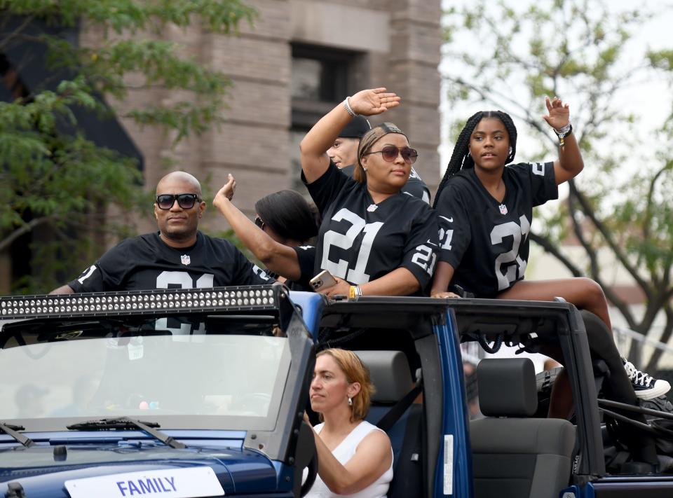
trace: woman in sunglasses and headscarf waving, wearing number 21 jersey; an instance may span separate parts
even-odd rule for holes
[[[369,130],[358,147],[353,178],[327,150],[358,114],[372,116],[400,105],[386,88],[362,90],[334,107],[301,141],[301,179],[322,215],[315,273],[329,271],[337,284],[321,290],[355,298],[422,293],[437,249],[433,210],[401,189],[418,153],[393,123]]]

